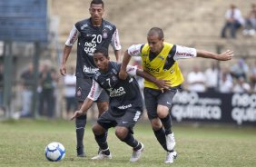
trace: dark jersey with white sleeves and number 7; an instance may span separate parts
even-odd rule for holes
[[[143,97],[140,93],[139,84],[133,76],[136,74],[137,67],[128,65],[126,80],[118,78],[121,64],[109,63],[107,73],[97,71],[94,75],[93,86],[88,98],[97,100],[102,90],[105,90],[110,97],[110,107],[113,115],[121,115],[127,108],[143,109]],[[142,110],[143,111],[143,110]]]

